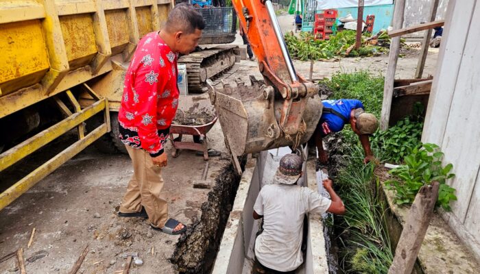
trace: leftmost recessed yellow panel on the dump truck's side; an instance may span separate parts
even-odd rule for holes
[[[49,69],[40,20],[3,24],[0,37],[1,95],[38,83]]]

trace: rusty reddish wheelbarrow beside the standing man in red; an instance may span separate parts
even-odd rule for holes
[[[217,122],[218,117],[215,118],[210,122],[204,125],[174,125],[172,124],[170,127],[170,141],[173,145],[173,152],[171,155],[173,158],[177,158],[178,154],[180,153],[180,149],[191,149],[195,151],[203,151],[204,153],[204,160],[208,160],[208,142],[206,140],[206,133],[215,125]],[[177,138],[173,137],[173,134],[178,134]],[[193,135],[193,136],[200,136],[204,140],[201,144],[196,142],[182,142],[182,136],[186,135]]]

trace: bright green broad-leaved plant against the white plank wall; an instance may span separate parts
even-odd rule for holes
[[[442,166],[443,156],[444,153],[437,145],[423,144],[420,149],[413,149],[411,154],[405,157],[405,165],[389,171],[398,178],[385,182],[389,188],[396,190],[395,203],[412,203],[422,186],[437,181],[440,183],[437,206],[450,211],[450,201],[457,200],[457,197],[454,194],[455,188],[448,186],[446,179],[454,177],[455,174],[451,173],[453,164]]]

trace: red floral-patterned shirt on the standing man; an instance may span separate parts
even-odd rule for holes
[[[125,74],[119,137],[152,157],[163,153],[177,111],[177,58],[158,32],[152,32],[139,41]]]

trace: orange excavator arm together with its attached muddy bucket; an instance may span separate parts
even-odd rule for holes
[[[265,85],[255,99],[234,96],[246,86],[210,86],[230,151],[235,155],[307,142],[322,113],[318,86],[296,73],[270,0],[232,0],[239,23],[259,60]],[[313,100],[309,100],[316,97]]]

